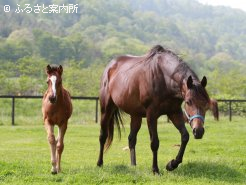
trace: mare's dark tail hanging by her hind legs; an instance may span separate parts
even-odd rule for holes
[[[121,126],[122,128],[124,128],[123,125],[123,121],[122,121],[122,117],[121,117],[121,111],[118,107],[116,107],[116,109],[112,112],[110,119],[109,119],[109,124],[108,126],[108,130],[107,130],[107,140],[105,143],[105,149],[104,151],[107,151],[109,149],[109,147],[112,144],[113,138],[114,138],[114,124],[116,124],[117,129],[118,129],[118,136],[119,139],[121,139]],[[121,125],[121,126],[120,126]]]

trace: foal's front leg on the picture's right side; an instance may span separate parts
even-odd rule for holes
[[[57,172],[61,171],[61,155],[64,149],[64,135],[67,130],[67,122],[63,123],[61,126],[58,128],[58,137],[57,137],[57,144],[56,144],[56,169]]]

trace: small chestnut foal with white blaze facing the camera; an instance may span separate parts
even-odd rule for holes
[[[72,114],[70,94],[62,87],[62,66],[48,65],[46,67],[48,90],[43,97],[43,119],[48,134],[51,150],[51,173],[57,174],[61,170],[61,155],[64,149],[64,135],[67,130],[68,119]],[[57,140],[54,126],[58,126]]]

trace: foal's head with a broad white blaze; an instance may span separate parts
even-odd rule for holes
[[[47,65],[46,74],[47,74],[47,83],[49,90],[49,101],[54,104],[57,100],[57,91],[62,86],[62,72],[63,68],[61,65]]]

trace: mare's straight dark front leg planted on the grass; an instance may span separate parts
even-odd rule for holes
[[[159,148],[159,138],[157,133],[157,118],[147,112],[147,123],[149,128],[150,140],[151,140],[151,150],[153,153],[153,163],[152,163],[152,171],[153,173],[159,174],[158,162],[157,162],[157,152]]]

